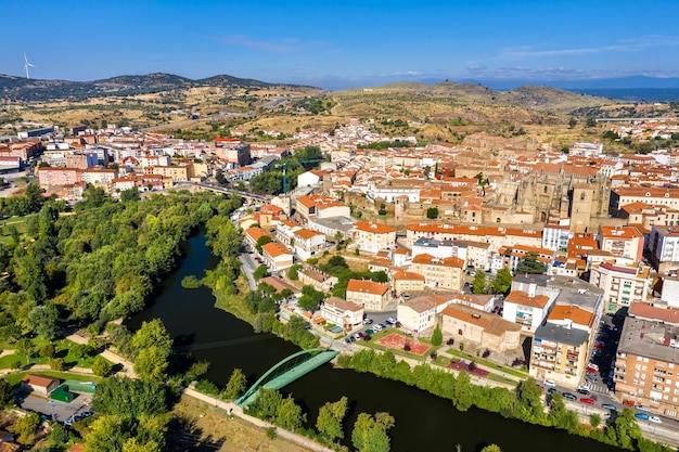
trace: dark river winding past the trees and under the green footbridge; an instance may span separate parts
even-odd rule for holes
[[[203,277],[215,260],[205,246],[204,235],[188,241],[179,268],[164,282],[151,306],[126,324],[137,330],[142,321],[159,318],[175,339],[197,360],[210,363],[205,377],[219,387],[240,367],[252,383],[283,358],[299,349],[269,334],[255,334],[249,324],[214,307],[212,290],[184,289],[187,275]],[[389,430],[396,452],[454,451],[478,452],[496,443],[502,452],[619,451],[619,449],[563,430],[543,428],[507,419],[499,414],[472,408],[460,413],[448,400],[423,392],[399,382],[377,378],[326,364],[283,389],[299,403],[316,424],[319,408],[342,396],[350,400],[345,419],[345,442],[350,445],[350,428],[358,413],[386,411],[396,418]]]

